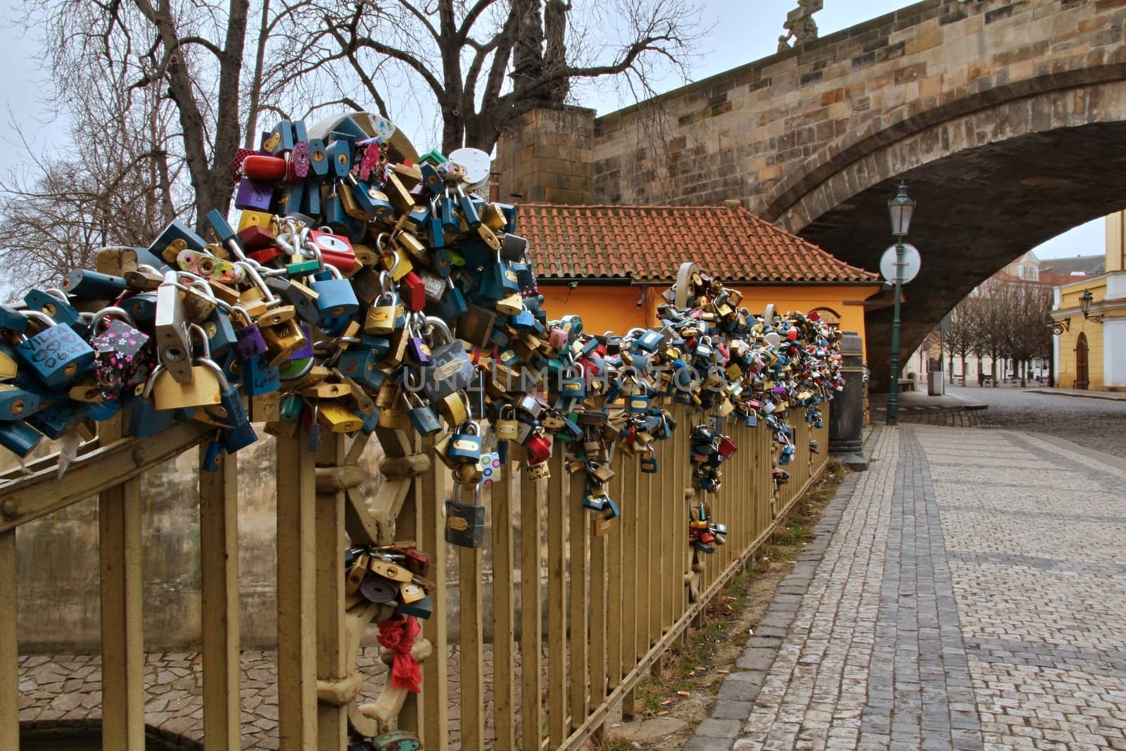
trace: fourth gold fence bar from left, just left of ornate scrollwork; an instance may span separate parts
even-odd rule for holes
[[[316,476],[309,435],[277,439],[278,742],[316,748]],[[339,553],[339,552],[338,552]]]

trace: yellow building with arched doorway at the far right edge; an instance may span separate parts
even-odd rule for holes
[[[1126,391],[1126,236],[1124,212],[1107,217],[1106,272],[1056,287],[1052,318],[1056,385]]]

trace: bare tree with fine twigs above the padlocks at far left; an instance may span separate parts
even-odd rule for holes
[[[12,129],[12,146],[25,154],[0,177],[0,269],[12,292],[92,267],[100,247],[146,245],[191,204],[182,161],[166,149],[175,118],[159,93],[82,69],[73,75],[87,77],[87,93],[66,113],[71,155],[37,153],[29,135]]]

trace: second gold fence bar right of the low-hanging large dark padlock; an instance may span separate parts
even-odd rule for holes
[[[511,468],[515,465],[509,465]],[[544,607],[539,599],[543,566],[540,540],[546,482],[531,482],[520,472],[520,740],[519,748],[538,749],[544,707],[540,701]],[[517,748],[517,746],[512,746]]]

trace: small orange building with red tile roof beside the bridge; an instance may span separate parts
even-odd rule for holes
[[[571,206],[522,204],[517,231],[548,318],[582,316],[588,331],[625,332],[656,321],[661,293],[685,261],[743,293],[761,314],[817,311],[865,337],[865,301],[879,277],[849,266],[742,208],[725,206]],[[865,337],[867,341],[867,337]]]

